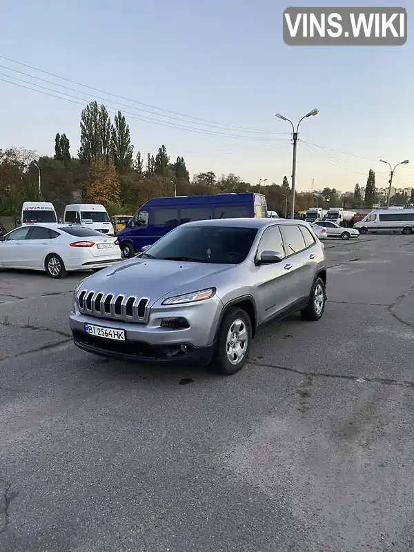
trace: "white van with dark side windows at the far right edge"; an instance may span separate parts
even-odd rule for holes
[[[393,208],[375,209],[366,215],[362,221],[354,224],[359,234],[368,232],[401,232],[411,234],[414,232],[414,209]]]

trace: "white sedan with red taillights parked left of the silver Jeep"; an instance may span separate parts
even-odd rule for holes
[[[61,278],[69,270],[99,270],[119,261],[115,237],[82,226],[20,226],[0,237],[0,268],[45,270]]]

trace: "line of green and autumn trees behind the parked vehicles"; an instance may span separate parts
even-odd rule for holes
[[[55,136],[52,157],[38,157],[25,148],[0,150],[0,215],[4,216],[19,215],[23,201],[52,201],[60,214],[69,203],[90,202],[105,205],[111,215],[128,215],[152,197],[246,192],[264,193],[269,210],[280,216],[290,212],[288,177],[284,176],[280,184],[262,187],[243,181],[233,172],[217,177],[208,170],[190,179],[184,157],[170,159],[164,144],[155,155],[135,152],[125,116],[119,111],[112,122],[106,107],[97,101],[88,103],[81,112],[76,157],[70,154],[70,139],[60,132]],[[371,208],[377,200],[375,173],[370,170],[364,193],[359,184],[353,193],[344,195],[335,188],[324,188],[317,197],[297,193],[295,210],[313,206]]]

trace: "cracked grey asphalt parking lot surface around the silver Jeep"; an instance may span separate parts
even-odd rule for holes
[[[232,377],[83,353],[82,275],[1,272],[0,550],[413,551],[414,238],[326,253]]]

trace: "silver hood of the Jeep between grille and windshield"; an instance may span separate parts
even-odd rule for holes
[[[214,286],[212,279],[206,284],[206,278],[234,268],[233,264],[206,264],[178,261],[158,261],[153,259],[130,259],[105,268],[81,282],[79,290],[87,289],[102,293],[122,293],[136,297],[150,297],[150,304],[167,293],[190,284],[190,293],[207,286]]]

